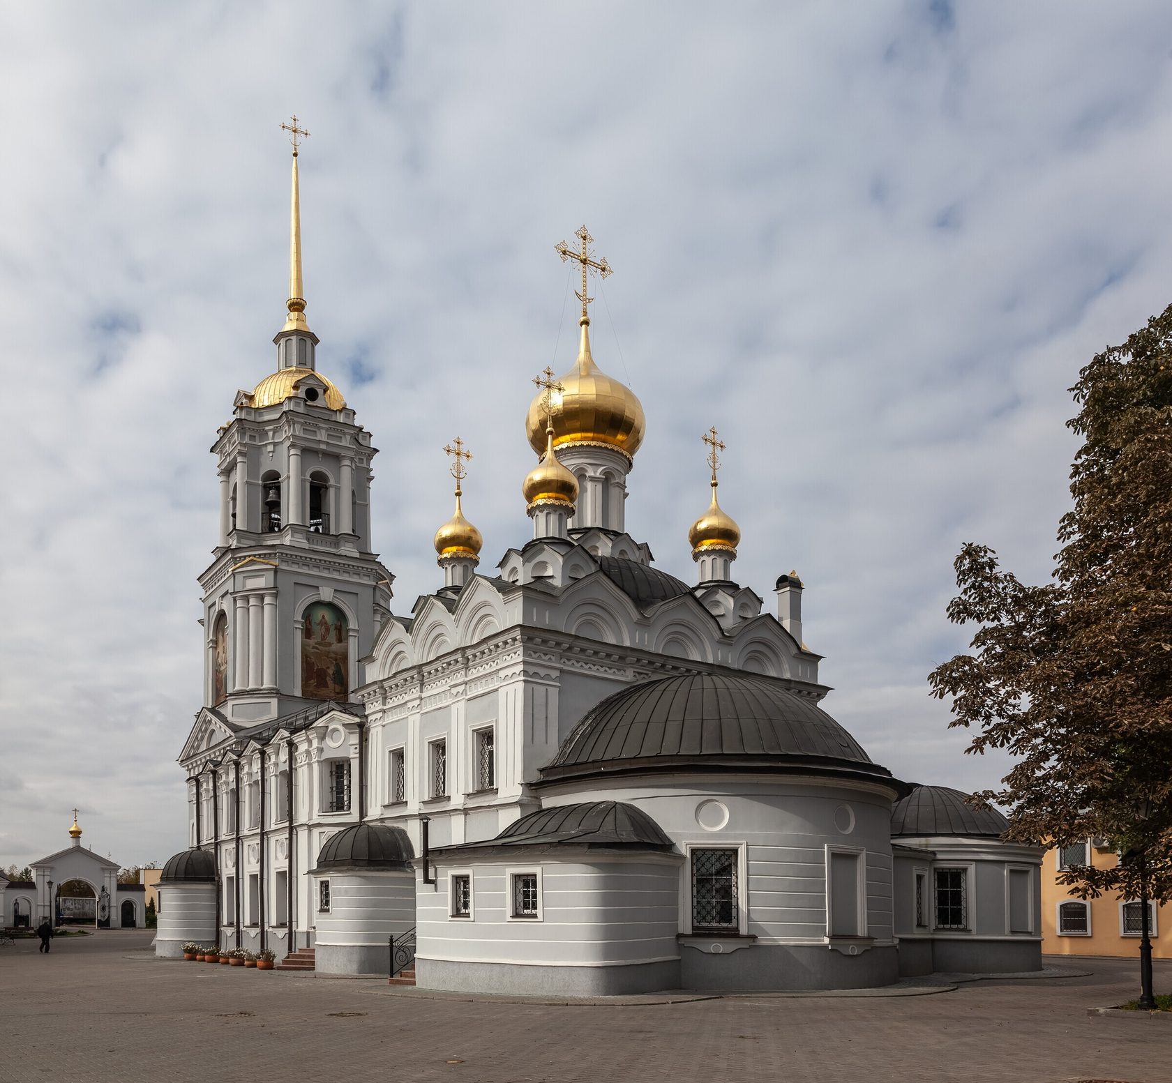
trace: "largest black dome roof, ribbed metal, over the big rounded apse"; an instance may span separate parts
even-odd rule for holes
[[[785,764],[893,781],[826,711],[781,682],[707,673],[642,681],[602,700],[541,775],[553,781],[686,764]]]

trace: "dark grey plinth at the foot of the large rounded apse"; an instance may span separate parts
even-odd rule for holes
[[[894,947],[874,947],[844,955],[829,947],[755,945],[710,955],[687,945],[680,948],[684,989],[720,992],[804,992],[866,989],[890,986],[899,976]]]

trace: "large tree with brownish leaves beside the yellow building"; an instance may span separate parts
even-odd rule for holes
[[[1172,899],[1172,306],[1097,354],[1071,388],[1083,440],[1052,580],[1021,583],[996,553],[956,558],[956,624],[972,653],[931,675],[968,751],[1006,749],[1008,837],[1065,845],[1103,837],[1124,859],[1077,866],[1076,895]],[[1147,907],[1143,907],[1144,928]],[[1142,938],[1151,995],[1151,945]]]

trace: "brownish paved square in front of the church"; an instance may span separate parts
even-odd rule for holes
[[[0,1081],[1172,1083],[1172,1020],[1086,1015],[1134,995],[1133,961],[932,996],[551,1007],[159,962],[149,944],[111,931],[48,956],[35,940],[0,948]],[[1172,992],[1172,963],[1157,986]]]

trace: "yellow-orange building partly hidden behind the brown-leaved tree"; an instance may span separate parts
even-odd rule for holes
[[[1048,955],[1126,955],[1139,953],[1139,902],[1118,895],[1078,899],[1057,883],[1069,865],[1113,869],[1118,854],[1102,839],[1048,850],[1042,858],[1042,952]],[[1172,904],[1150,902],[1152,955],[1172,959]]]

